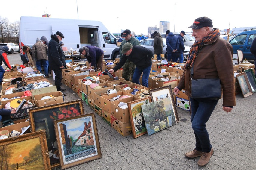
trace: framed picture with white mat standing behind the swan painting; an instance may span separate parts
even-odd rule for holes
[[[178,116],[178,112],[177,112],[177,108],[176,108],[176,105],[175,105],[175,100],[174,100],[174,97],[173,97],[171,86],[163,86],[163,87],[159,87],[159,88],[156,88],[156,89],[151,89],[151,90],[149,90],[149,94],[151,96],[152,101],[159,101],[161,99],[170,97],[172,107],[175,110],[175,112],[174,112],[175,113],[175,115],[174,115],[175,120],[176,120],[176,122],[180,121],[179,116]]]

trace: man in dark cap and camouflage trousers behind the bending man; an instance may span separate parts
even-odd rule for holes
[[[124,40],[122,41],[119,47],[119,51],[123,50],[123,45],[126,42],[130,42],[132,45],[140,45],[139,40],[132,36],[130,30],[124,30],[122,38],[124,38]],[[122,57],[123,57],[123,54],[120,52],[120,60]],[[127,81],[130,81],[130,76],[131,76],[131,79],[133,79],[133,73],[134,73],[135,67],[136,67],[135,64],[128,59],[126,63],[123,65],[122,78],[124,78]]]

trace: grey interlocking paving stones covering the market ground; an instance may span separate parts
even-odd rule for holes
[[[15,54],[12,54],[15,55]],[[9,56],[9,55],[8,55]],[[10,58],[10,59],[9,59]],[[8,57],[10,63],[18,62]],[[20,59],[19,56],[17,59]],[[53,82],[52,77],[49,78]],[[65,101],[78,99],[67,86]],[[184,154],[195,148],[190,113],[178,108],[180,122],[160,132],[133,139],[123,137],[96,114],[102,158],[83,163],[68,170],[162,170],[162,169],[256,169],[256,94],[243,98],[236,95],[236,106],[231,113],[222,110],[219,100],[206,128],[214,149],[209,164],[197,165],[198,158],[187,159]],[[85,113],[93,110],[84,103]]]

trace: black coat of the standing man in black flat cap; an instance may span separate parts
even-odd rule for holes
[[[55,34],[51,35],[51,40],[48,44],[48,60],[51,70],[61,70],[60,67],[62,66],[66,68],[65,55]]]

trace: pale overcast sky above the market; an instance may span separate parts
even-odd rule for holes
[[[168,2],[168,3],[166,3]],[[37,16],[48,12],[52,18],[82,19],[101,21],[111,33],[130,29],[135,34],[147,34],[147,28],[160,21],[169,21],[170,30],[184,30],[201,16],[212,19],[213,27],[230,29],[256,26],[254,7],[256,1],[93,1],[93,0],[24,0],[1,1],[0,16],[10,22],[19,21],[20,16]],[[15,5],[14,5],[15,4]],[[78,4],[78,13],[77,13]],[[175,5],[176,4],[176,5]],[[176,7],[176,12],[175,12]],[[118,18],[117,18],[118,17]]]

